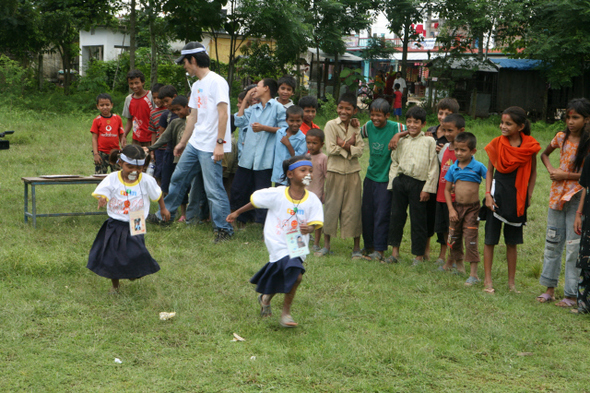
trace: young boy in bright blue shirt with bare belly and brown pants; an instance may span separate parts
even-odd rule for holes
[[[446,119],[445,119],[446,120]],[[478,251],[478,215],[479,215],[479,184],[486,178],[487,168],[478,162],[473,155],[476,152],[477,139],[470,132],[462,132],[455,137],[455,155],[457,161],[445,175],[445,199],[449,209],[449,247],[451,258],[457,264],[457,270],[465,272],[463,265],[463,244],[465,237],[465,260],[471,265],[469,278],[465,285],[477,284]],[[455,201],[451,191],[455,188]]]

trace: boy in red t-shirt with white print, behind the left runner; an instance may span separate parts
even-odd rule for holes
[[[94,173],[105,174],[108,168],[111,172],[119,170],[109,163],[111,150],[123,149],[126,145],[123,120],[111,113],[113,99],[109,94],[102,93],[96,97],[96,109],[100,112],[92,121],[92,152],[94,153]]]

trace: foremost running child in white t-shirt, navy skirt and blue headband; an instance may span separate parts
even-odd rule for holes
[[[260,316],[271,315],[270,301],[276,293],[284,293],[280,324],[295,327],[291,317],[291,303],[301,283],[305,255],[292,257],[298,251],[309,253],[309,234],[324,224],[322,202],[305,189],[311,183],[313,167],[309,157],[295,156],[283,162],[284,180],[288,186],[265,188],[250,197],[250,203],[227,216],[228,222],[248,210],[268,209],[264,223],[264,242],[269,261],[251,279],[256,284]],[[301,238],[299,238],[301,237]],[[303,241],[305,247],[300,247]],[[289,244],[293,244],[289,246]],[[299,244],[298,244],[299,243]]]

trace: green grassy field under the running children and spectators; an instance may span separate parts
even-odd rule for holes
[[[123,282],[113,296],[109,281],[85,268],[103,217],[24,224],[20,177],[93,173],[94,116],[0,109],[1,128],[16,130],[0,152],[0,391],[590,390],[588,317],[535,301],[550,187],[540,160],[519,247],[521,294],[508,292],[504,246],[496,294],[488,295],[433,263],[411,267],[407,240],[401,263],[381,265],[351,261],[352,240],[334,239],[333,256],[308,258],[293,307],[300,326],[286,330],[278,324],[282,296],[275,316],[260,320],[248,283],[268,258],[259,227],[214,245],[209,226],[150,226],[146,242],[162,270]],[[468,123],[484,162],[497,124]],[[533,135],[545,147],[557,129],[536,124]],[[94,210],[92,190],[39,187],[39,211]],[[177,317],[160,321],[161,311]],[[246,341],[233,342],[234,332]]]

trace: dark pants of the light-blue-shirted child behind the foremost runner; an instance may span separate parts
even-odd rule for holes
[[[250,196],[252,196],[254,191],[269,188],[272,185],[271,176],[272,169],[254,171],[238,166],[231,189],[231,210],[238,210],[240,207],[248,204],[250,202]],[[254,221],[264,224],[264,220],[266,220],[266,209],[249,211],[240,214],[238,217],[238,221],[240,222]]]

